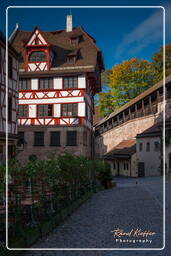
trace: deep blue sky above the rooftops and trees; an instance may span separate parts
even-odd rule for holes
[[[138,3],[137,3],[138,2]],[[5,10],[8,6],[73,6],[70,8],[9,8],[9,35],[19,29],[44,31],[66,27],[66,15],[73,15],[74,26],[82,26],[102,50],[106,69],[132,57],[151,60],[163,44],[162,8],[74,8],[74,6],[164,6],[166,43],[171,43],[171,1],[162,0],[0,0],[0,29],[5,33]]]

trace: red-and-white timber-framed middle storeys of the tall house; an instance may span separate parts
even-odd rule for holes
[[[39,89],[39,79],[31,78],[31,90],[19,91],[19,105],[28,105],[27,117],[19,117],[19,125],[80,125],[84,124],[92,129],[93,96],[87,93],[86,75],[80,75],[78,87],[63,88],[63,78],[53,78],[52,89]],[[77,115],[62,116],[62,104],[77,103]],[[39,117],[38,105],[52,104],[52,116]]]

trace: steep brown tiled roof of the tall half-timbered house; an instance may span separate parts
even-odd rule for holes
[[[82,27],[73,28],[72,32],[66,32],[65,30],[43,32],[47,42],[51,45],[55,54],[52,67],[85,67],[85,66],[100,66],[100,69],[104,69],[103,57],[100,49],[96,46],[95,40],[84,31]],[[24,45],[30,38],[32,32],[17,30],[15,37],[12,40],[12,46],[15,50],[21,54],[20,69],[24,68],[25,53]],[[72,37],[79,38],[79,44],[73,46],[70,43]],[[79,52],[76,63],[67,63],[67,56],[73,52]],[[84,69],[85,71],[85,69]]]

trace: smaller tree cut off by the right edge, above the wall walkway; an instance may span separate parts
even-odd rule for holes
[[[163,79],[163,47],[153,55],[153,67],[156,73],[156,82]],[[166,76],[171,74],[171,44],[165,46]]]

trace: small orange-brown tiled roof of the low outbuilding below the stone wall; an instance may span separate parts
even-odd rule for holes
[[[136,140],[123,140],[104,155],[105,159],[130,158],[136,152]]]

